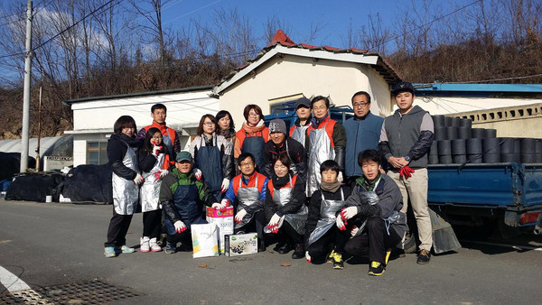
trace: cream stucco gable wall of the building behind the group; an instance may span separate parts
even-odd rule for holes
[[[243,109],[248,104],[260,106],[264,115],[269,114],[270,99],[296,94],[329,95],[336,106],[350,105],[350,97],[360,90],[367,90],[377,101],[371,105],[373,112],[389,108],[388,83],[368,65],[285,55],[268,60],[226,88],[220,96],[220,109],[231,113],[238,129],[245,121]]]

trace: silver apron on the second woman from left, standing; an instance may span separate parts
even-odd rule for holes
[[[154,173],[162,171],[162,165],[164,164],[165,154],[159,153],[156,157],[156,162],[154,162],[154,167],[149,172],[143,173],[143,185],[139,190],[139,198],[141,199],[141,211],[149,212],[154,211],[160,206],[160,186],[162,185],[162,180],[160,176],[156,177]]]

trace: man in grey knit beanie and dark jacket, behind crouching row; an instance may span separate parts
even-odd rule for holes
[[[273,174],[273,161],[280,153],[288,155],[292,161],[292,171],[305,179],[306,161],[304,147],[301,143],[288,137],[285,121],[276,118],[269,122],[269,141],[264,147],[264,172],[267,177]]]

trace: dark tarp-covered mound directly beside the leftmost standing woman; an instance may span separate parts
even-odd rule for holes
[[[66,175],[62,196],[71,201],[113,203],[111,174],[111,168],[107,164],[79,165]]]

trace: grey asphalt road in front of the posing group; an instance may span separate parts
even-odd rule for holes
[[[427,265],[417,265],[416,255],[407,254],[373,277],[365,262],[347,262],[338,271],[330,263],[313,265],[276,254],[272,246],[262,254],[234,258],[136,252],[107,259],[103,243],[111,211],[102,205],[0,200],[0,266],[34,290],[95,279],[128,287],[137,296],[113,301],[126,304],[486,304],[542,299],[542,251],[534,249],[542,246],[538,236],[500,241],[528,245],[527,250],[463,243],[457,252],[434,255]],[[139,214],[127,235],[128,245],[138,245],[141,231]],[[200,267],[203,263],[207,267]],[[0,285],[0,302],[8,293]],[[74,296],[70,302],[79,301]]]

